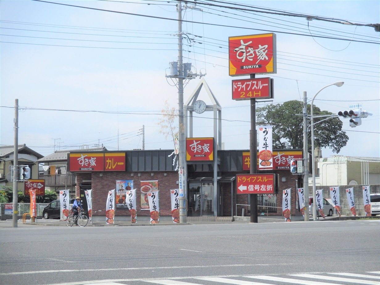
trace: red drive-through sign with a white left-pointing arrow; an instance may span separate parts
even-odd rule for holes
[[[236,174],[237,194],[273,194],[275,174]]]

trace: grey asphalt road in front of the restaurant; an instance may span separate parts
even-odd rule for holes
[[[376,275],[380,274],[379,226],[380,220],[354,220],[2,228],[0,284],[149,285],[143,280],[155,284],[232,284],[229,279],[204,279],[230,276],[239,282],[279,285],[310,277],[292,276],[287,282],[276,279],[289,278],[289,274]],[[264,279],[247,281],[247,276],[258,275],[274,280],[259,276]],[[339,278],[302,284],[351,284]],[[372,280],[364,284],[380,284],[377,277],[362,279]],[[239,282],[236,284],[251,284]]]

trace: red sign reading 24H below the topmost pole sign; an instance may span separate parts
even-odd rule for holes
[[[273,98],[273,79],[252,78],[232,81],[232,99],[264,99]]]

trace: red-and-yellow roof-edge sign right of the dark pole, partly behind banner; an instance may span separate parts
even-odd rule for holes
[[[258,155],[258,154],[257,154]],[[302,159],[302,150],[273,150],[273,170],[290,170],[290,161],[292,159]],[[258,166],[258,160],[257,160]],[[243,170],[249,170],[250,168],[250,154],[249,152],[243,152]]]

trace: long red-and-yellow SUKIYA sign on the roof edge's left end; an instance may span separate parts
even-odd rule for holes
[[[70,153],[69,171],[125,171],[125,152]]]

